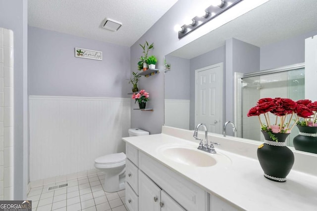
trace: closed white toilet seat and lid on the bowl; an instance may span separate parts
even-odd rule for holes
[[[124,166],[125,159],[126,155],[123,152],[101,156],[95,160],[95,167],[107,169]]]

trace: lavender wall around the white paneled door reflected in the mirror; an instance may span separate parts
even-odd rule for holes
[[[195,129],[195,70],[220,62],[223,62],[223,72],[225,73],[225,46],[218,47],[210,52],[204,53],[190,60],[190,129]],[[225,90],[224,85],[225,83],[223,83],[223,90]],[[223,114],[225,115],[225,111],[223,111]]]

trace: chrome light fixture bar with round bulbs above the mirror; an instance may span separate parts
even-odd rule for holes
[[[198,27],[217,17],[222,12],[236,5],[240,1],[242,0],[219,0],[218,5],[209,6],[205,9],[205,12],[202,14],[202,16],[195,16],[190,24],[184,24],[180,27],[180,30],[178,31],[178,39],[181,39],[184,36],[188,35]]]

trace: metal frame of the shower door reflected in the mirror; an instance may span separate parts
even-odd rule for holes
[[[242,79],[256,77],[256,76],[264,76],[268,74],[274,73],[282,73],[290,70],[297,70],[305,68],[305,63],[298,63],[293,65],[288,65],[280,68],[269,69],[254,73],[234,73],[234,123],[237,125],[237,137],[242,137]]]

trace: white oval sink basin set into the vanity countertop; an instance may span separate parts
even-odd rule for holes
[[[197,146],[168,144],[159,148],[159,153],[173,162],[195,166],[211,167],[217,163],[231,163],[223,154],[211,154],[197,149]]]

